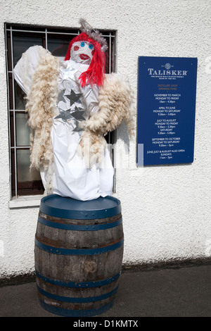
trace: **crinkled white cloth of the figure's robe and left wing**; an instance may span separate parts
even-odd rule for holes
[[[14,68],[14,77],[18,85],[27,94],[30,91],[34,70],[38,65],[39,52],[37,46],[30,47],[27,50],[30,54],[31,63],[25,63],[25,57],[22,56]],[[27,58],[29,58],[27,56]],[[87,104],[89,111],[98,111],[98,87],[86,85],[79,90],[77,78],[81,73],[87,70],[89,65],[77,63],[75,61],[61,61],[60,73],[58,76],[58,88],[65,95],[70,95],[71,90],[75,93],[83,93],[83,100]],[[29,72],[25,72],[29,68]],[[82,108],[80,99],[74,104],[70,104],[67,97],[58,101],[59,108],[64,111],[70,110],[73,113],[77,108]],[[77,107],[77,108],[75,108]],[[87,168],[84,158],[79,156],[77,147],[80,141],[80,133],[73,131],[77,126],[77,120],[74,118],[65,121],[62,118],[53,118],[51,129],[51,140],[53,146],[53,168],[52,175],[53,193],[60,196],[69,196],[72,199],[92,200],[99,196],[112,195],[113,191],[113,165],[110,160],[108,149],[105,150],[103,165],[94,164]],[[41,180],[46,187],[46,172],[40,171]]]

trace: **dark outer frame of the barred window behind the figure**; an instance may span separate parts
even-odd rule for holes
[[[106,73],[112,73],[116,71],[116,31],[115,30],[99,30],[103,37],[106,37],[108,41],[108,53],[106,61]],[[6,77],[7,77],[7,90],[8,90],[8,132],[9,132],[9,161],[10,161],[10,186],[11,186],[11,199],[18,199],[19,196],[38,196],[43,194],[44,189],[40,189],[41,179],[37,181],[18,182],[18,149],[29,150],[30,145],[18,146],[16,139],[16,119],[17,113],[25,113],[25,109],[15,108],[15,80],[13,74],[14,68],[14,50],[13,50],[13,37],[27,37],[27,36],[41,36],[42,46],[48,48],[48,39],[50,36],[64,36],[65,39],[70,40],[79,35],[81,31],[79,28],[74,27],[54,27],[44,25],[23,25],[15,23],[5,23],[5,43],[6,43]],[[70,37],[70,38],[67,38]],[[25,113],[26,114],[26,113]],[[110,132],[106,136],[106,140],[110,146],[111,158],[113,164],[115,164],[115,132]],[[24,183],[24,184],[23,184]],[[22,186],[22,188],[21,188]],[[114,187],[115,191],[115,179]]]

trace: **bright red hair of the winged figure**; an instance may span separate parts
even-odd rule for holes
[[[65,56],[65,61],[70,60],[70,50],[72,44],[75,42],[91,42],[94,46],[94,55],[89,65],[87,71],[82,73],[79,76],[79,80],[81,82],[82,87],[87,84],[96,84],[98,86],[103,85],[103,79],[105,74],[105,63],[106,63],[106,56],[103,51],[101,51],[101,44],[96,42],[96,40],[91,39],[87,33],[82,32],[77,37],[73,38],[68,46],[68,51]]]

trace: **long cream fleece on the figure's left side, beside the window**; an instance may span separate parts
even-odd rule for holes
[[[58,58],[41,47],[39,65],[35,70],[26,104],[28,125],[31,127],[31,168],[46,170],[53,162],[51,127],[56,115],[58,74]]]

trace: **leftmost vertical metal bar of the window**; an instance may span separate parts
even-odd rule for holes
[[[13,30],[11,27],[11,60],[12,60],[12,69],[14,68],[13,61]],[[16,156],[16,125],[15,125],[15,84],[14,84],[14,73],[12,73],[12,82],[13,82],[13,128],[14,128],[14,159],[15,159],[15,198],[18,197],[18,183],[17,183],[17,156]]]

